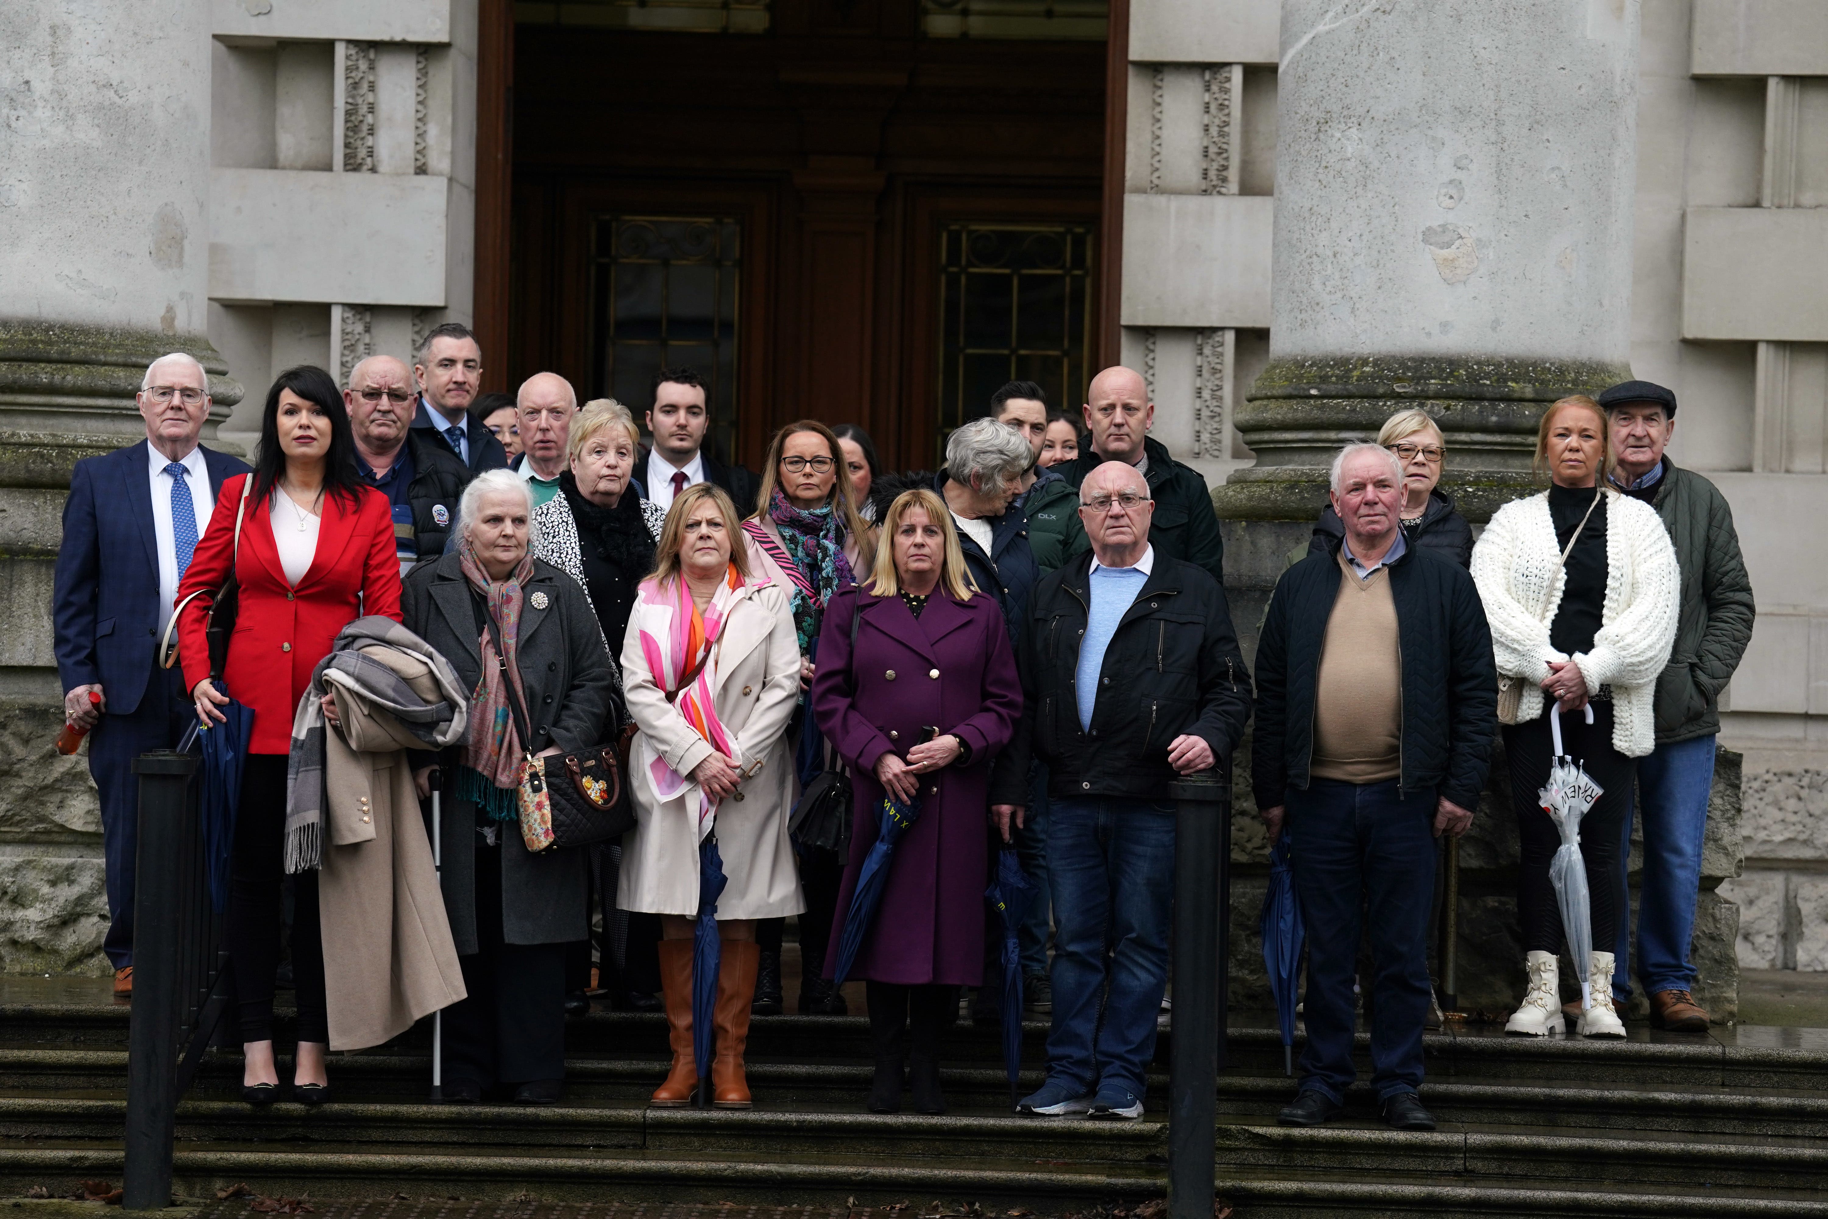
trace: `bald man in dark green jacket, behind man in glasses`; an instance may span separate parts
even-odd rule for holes
[[[1042,554],[1058,554],[1055,565],[1062,565],[1091,545],[1079,521],[1079,484],[1102,462],[1121,461],[1142,472],[1155,501],[1150,545],[1157,554],[1196,563],[1212,572],[1223,587],[1225,543],[1219,539],[1219,519],[1212,514],[1212,490],[1196,470],[1177,462],[1166,446],[1148,439],[1148,429],[1155,422],[1155,404],[1150,402],[1142,376],[1126,367],[1104,369],[1091,378],[1084,409],[1091,448],[1079,459],[1055,466],[1073,495],[1024,506],[1036,561]],[[1055,539],[1058,550],[1053,550]],[[1042,570],[1047,570],[1046,561]]]

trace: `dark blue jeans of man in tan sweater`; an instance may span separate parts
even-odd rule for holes
[[[1294,892],[1307,925],[1302,1091],[1344,1104],[1353,1067],[1353,978],[1362,908],[1376,967],[1371,1086],[1378,1100],[1422,1084],[1428,914],[1435,897],[1435,790],[1311,780],[1289,790]]]

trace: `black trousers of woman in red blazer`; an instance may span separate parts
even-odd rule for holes
[[[280,899],[285,879],[285,755],[250,753],[241,771],[241,810],[236,813],[225,919],[243,1042],[272,1040],[272,978],[280,969]],[[298,1040],[329,1042],[318,874],[300,872],[291,881]]]

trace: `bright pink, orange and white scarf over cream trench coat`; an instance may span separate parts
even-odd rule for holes
[[[717,643],[724,634],[724,625],[729,621],[739,590],[766,583],[770,581],[751,579],[744,585],[737,565],[731,563],[724,583],[717,588],[717,596],[711,598],[711,603],[704,610],[693,601],[691,585],[686,583],[684,576],[665,585],[643,579],[634,598],[631,623],[640,632],[642,658],[647,662],[647,671],[654,674],[654,682],[665,691],[691,729],[706,744],[729,758],[737,757],[737,749],[731,746],[722,720],[717,718],[717,702],[711,698],[711,687],[717,680]],[[691,676],[689,682],[687,674]],[[671,800],[691,786],[691,779],[667,766],[658,749],[649,762],[649,777],[662,800]],[[700,841],[711,832],[715,815],[717,800],[706,795],[704,788],[698,788]]]

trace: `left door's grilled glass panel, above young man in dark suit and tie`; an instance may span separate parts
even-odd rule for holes
[[[704,380],[711,451],[737,426],[737,287],[742,227],[728,216],[598,216],[590,300],[596,386],[642,422],[660,367]]]

